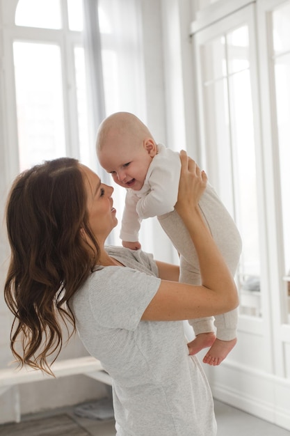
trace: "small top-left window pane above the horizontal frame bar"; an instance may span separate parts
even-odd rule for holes
[[[17,26],[61,29],[60,0],[19,0],[15,13]]]

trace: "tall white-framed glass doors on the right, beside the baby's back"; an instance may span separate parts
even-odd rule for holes
[[[239,364],[289,377],[290,0],[238,3],[194,26],[200,142],[243,240]]]

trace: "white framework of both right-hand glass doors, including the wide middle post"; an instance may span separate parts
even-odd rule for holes
[[[289,301],[285,299],[282,210],[279,162],[277,153],[277,115],[275,81],[271,65],[271,22],[269,13],[287,0],[220,0],[200,11],[200,20],[191,26],[197,71],[198,115],[203,165],[215,185],[216,168],[210,164],[204,139],[201,65],[199,45],[229,29],[248,24],[250,32],[250,74],[255,116],[255,150],[257,165],[257,202],[259,210],[259,251],[261,260],[261,319],[240,316],[239,331],[261,336],[262,355],[267,371],[289,377],[290,324]],[[207,170],[208,171],[208,170]],[[288,298],[289,300],[289,298]],[[249,336],[250,337],[250,336]]]

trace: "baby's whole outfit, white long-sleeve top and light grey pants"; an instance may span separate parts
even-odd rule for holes
[[[184,283],[201,284],[198,255],[182,219],[175,211],[181,163],[179,153],[159,144],[158,153],[152,159],[144,185],[140,191],[127,189],[120,238],[128,242],[138,241],[142,219],[158,217],[159,223],[180,254],[180,277]],[[213,238],[218,245],[229,270],[234,276],[241,254],[239,231],[208,183],[200,198],[200,210]],[[216,336],[229,341],[236,337],[237,309],[215,317]],[[213,318],[190,320],[195,335],[213,332]]]

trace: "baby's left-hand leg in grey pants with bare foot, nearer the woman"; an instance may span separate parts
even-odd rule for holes
[[[166,215],[158,217],[159,222],[169,236],[172,244],[180,254],[180,276],[179,281],[200,285],[200,270],[198,264],[198,254],[191,240],[191,237],[184,226],[182,219],[177,212],[173,210]],[[190,260],[190,261],[188,261]],[[189,320],[195,332],[195,339],[188,344],[191,355],[196,354],[202,348],[207,348],[212,345],[216,339],[215,328],[213,323],[214,318],[198,318]]]

